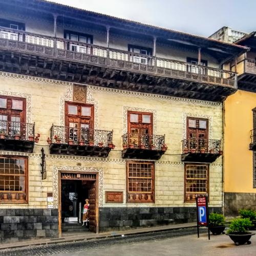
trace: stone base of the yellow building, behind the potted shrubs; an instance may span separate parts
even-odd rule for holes
[[[239,209],[256,210],[256,193],[224,194],[224,213],[226,216],[238,216]]]

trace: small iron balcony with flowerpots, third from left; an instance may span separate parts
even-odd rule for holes
[[[122,140],[122,158],[159,160],[167,150],[162,135],[126,133]]]

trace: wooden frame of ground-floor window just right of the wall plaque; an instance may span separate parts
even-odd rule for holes
[[[139,177],[129,177],[129,164],[151,164],[152,165],[152,191],[129,191],[129,179],[138,179]],[[141,177],[142,179],[145,177]],[[145,178],[148,179],[148,178]],[[131,198],[133,197],[133,198]],[[144,199],[143,199],[144,198]],[[155,203],[155,163],[145,161],[127,161],[126,162],[126,203]]]

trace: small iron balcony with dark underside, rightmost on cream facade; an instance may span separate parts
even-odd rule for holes
[[[212,163],[223,154],[221,140],[182,140],[181,161]]]

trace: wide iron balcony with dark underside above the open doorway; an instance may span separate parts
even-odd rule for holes
[[[113,131],[52,125],[48,143],[50,154],[108,157],[115,147],[112,138]]]

